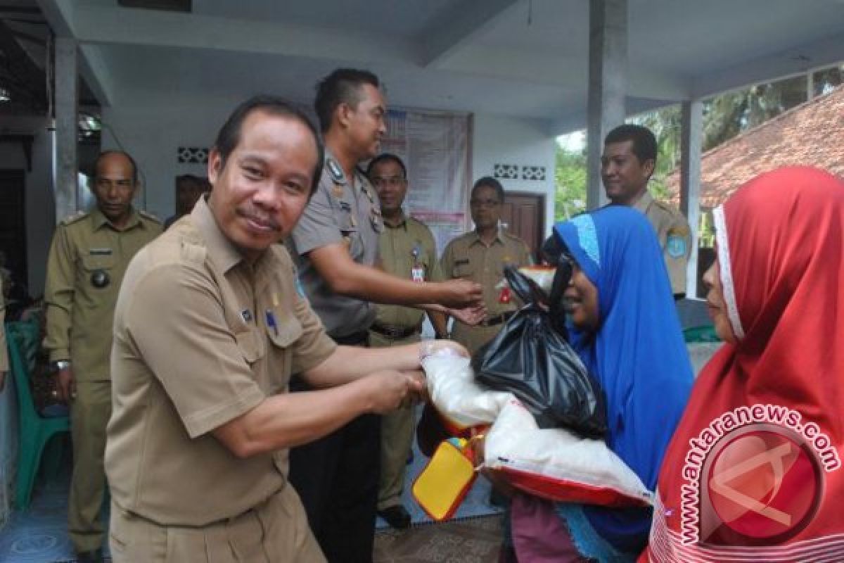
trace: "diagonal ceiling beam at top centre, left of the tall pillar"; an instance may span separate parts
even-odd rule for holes
[[[520,0],[464,0],[443,12],[419,36],[421,63],[438,67],[463,46],[489,30],[507,9]]]

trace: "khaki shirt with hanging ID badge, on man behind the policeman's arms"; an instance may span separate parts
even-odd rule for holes
[[[385,229],[378,237],[378,260],[381,268],[398,278],[414,279],[414,268],[426,282],[440,281],[442,273],[436,259],[434,235],[422,222],[402,217],[401,223]],[[400,305],[376,306],[376,323],[401,328],[420,327],[425,311]]]

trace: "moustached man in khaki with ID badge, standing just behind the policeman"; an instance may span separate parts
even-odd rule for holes
[[[395,154],[379,154],[366,169],[381,203],[384,230],[378,237],[378,262],[394,276],[417,283],[442,278],[436,259],[434,235],[425,224],[404,214],[402,204],[408,191],[407,169]],[[376,306],[369,343],[388,347],[419,342],[425,311],[399,305]],[[443,317],[431,317],[444,325]],[[437,333],[445,338],[445,328]],[[407,528],[410,515],[402,506],[407,459],[414,439],[414,408],[407,404],[381,417],[381,476],[378,482],[378,515],[393,528]]]

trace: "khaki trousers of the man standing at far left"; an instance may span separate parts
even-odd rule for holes
[[[68,499],[68,536],[77,552],[100,549],[105,535],[100,519],[106,492],[106,425],[111,416],[111,382],[76,382],[70,403],[73,478]]]

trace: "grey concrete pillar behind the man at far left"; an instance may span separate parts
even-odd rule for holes
[[[56,38],[56,221],[77,211],[78,45]]]

